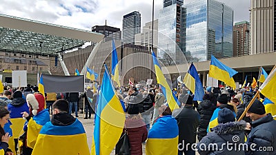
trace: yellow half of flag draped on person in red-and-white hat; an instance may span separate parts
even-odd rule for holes
[[[28,130],[27,130],[27,146],[30,148],[34,148],[35,143],[37,142],[37,136],[42,128],[42,125],[37,124],[32,118],[28,122]]]

